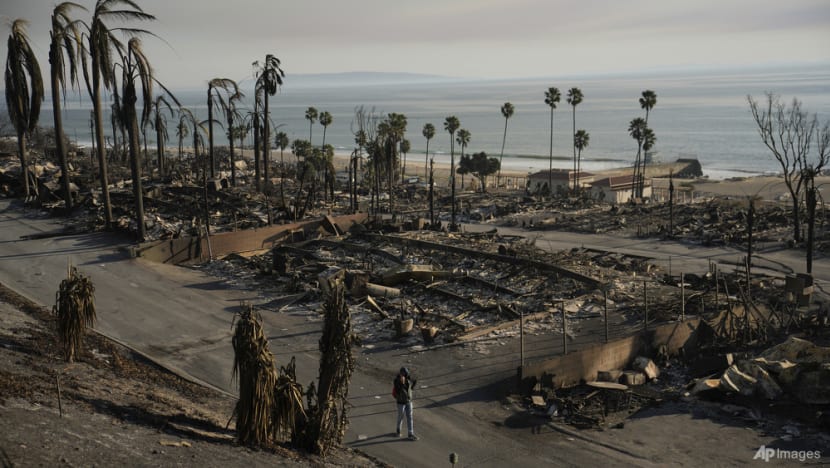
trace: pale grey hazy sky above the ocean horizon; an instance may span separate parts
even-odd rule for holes
[[[268,53],[282,60],[286,85],[292,74],[344,71],[556,77],[830,64],[828,0],[136,2],[158,18],[140,25],[164,40],[145,38],[145,51],[157,77],[174,88],[247,78],[251,63]],[[10,20],[27,19],[44,69],[56,3],[0,6],[3,39]],[[0,54],[5,63],[5,47]]]

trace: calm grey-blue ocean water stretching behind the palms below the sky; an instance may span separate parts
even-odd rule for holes
[[[309,80],[312,81],[312,80]],[[177,90],[176,96],[185,107],[205,119],[206,85],[199,90]],[[240,83],[243,92],[251,95],[250,81]],[[305,110],[314,106],[328,111],[333,122],[326,131],[326,142],[339,152],[351,152],[354,144],[354,112],[358,106],[379,116],[390,112],[407,117],[406,138],[412,151],[407,164],[423,167],[426,139],[421,130],[430,122],[436,135],[430,141],[430,154],[436,161],[449,161],[450,137],[444,131],[444,119],[455,115],[461,127],[471,132],[467,152],[485,151],[498,157],[504,132],[500,108],[511,102],[515,114],[508,121],[503,167],[536,171],[547,169],[550,145],[550,108],[544,103],[544,92],[556,86],[562,102],[554,111],[554,167],[570,168],[573,164],[571,144],[573,108],[566,102],[567,90],[579,87],[583,102],[576,108],[576,128],[590,134],[590,143],[582,153],[587,171],[632,165],[637,153],[636,142],[628,135],[629,122],[643,117],[638,99],[645,89],[657,93],[657,105],[649,114],[649,126],[657,136],[654,150],[662,161],[697,158],[704,174],[715,179],[740,175],[778,173],[780,166],[763,145],[747,103],[747,95],[765,99],[764,93],[774,92],[789,102],[797,97],[803,108],[816,113],[822,121],[830,119],[830,67],[816,66],[786,71],[743,71],[710,73],[663,73],[660,75],[608,75],[568,79],[514,80],[409,80],[408,82],[377,82],[364,84],[352,76],[348,80],[320,80],[304,83],[302,77],[292,81],[289,73],[279,94],[271,98],[271,118],[279,131],[293,139],[309,138],[309,122]],[[49,101],[44,103],[41,124],[51,126]],[[65,101],[67,136],[81,144],[89,144],[91,106],[84,97],[69,95]],[[248,103],[242,107],[250,107]],[[245,112],[245,109],[242,110]],[[171,141],[175,148],[175,118],[169,120]],[[108,126],[109,117],[105,118]],[[109,128],[108,128],[109,131]],[[223,131],[214,127],[215,142],[227,144]],[[273,134],[273,132],[272,132]],[[312,126],[315,145],[322,142],[323,127]],[[148,138],[154,139],[152,130]],[[185,140],[188,146],[190,139]],[[245,145],[251,145],[251,137]],[[152,147],[154,143],[150,143]],[[456,145],[456,154],[459,148]]]

